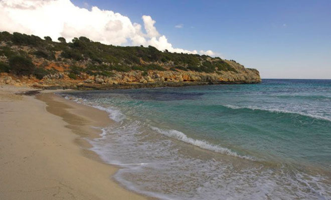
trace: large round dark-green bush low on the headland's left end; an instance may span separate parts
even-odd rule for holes
[[[9,66],[12,72],[17,75],[30,75],[35,71],[35,65],[28,58],[22,56],[13,56],[9,59]]]

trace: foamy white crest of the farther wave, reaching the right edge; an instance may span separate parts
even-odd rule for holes
[[[234,106],[234,105],[223,105],[223,106],[225,106],[227,108],[231,108],[231,109],[250,109],[250,110],[263,110],[263,111],[274,112],[274,113],[298,114],[298,115],[311,117],[311,118],[315,118],[315,119],[331,121],[331,118],[329,118],[329,117],[313,115],[313,114],[308,114],[308,113],[304,113],[304,112],[295,112],[295,111],[289,111],[289,110],[282,110],[282,109],[278,109],[278,108],[259,108],[257,106]]]

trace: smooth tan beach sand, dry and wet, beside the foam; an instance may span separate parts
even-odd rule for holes
[[[146,199],[112,180],[82,137],[112,121],[104,111],[52,93],[0,86],[0,199]]]

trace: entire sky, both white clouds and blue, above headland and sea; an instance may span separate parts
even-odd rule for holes
[[[331,79],[330,11],[330,0],[0,0],[0,31],[219,56],[262,78]]]

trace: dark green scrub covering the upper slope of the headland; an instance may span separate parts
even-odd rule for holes
[[[0,41],[7,44],[0,49],[0,56],[11,58],[20,55],[29,58],[36,56],[48,61],[61,61],[82,67],[81,71],[93,74],[95,72],[131,70],[191,70],[213,73],[215,71],[236,71],[221,58],[211,58],[206,55],[170,53],[148,47],[120,47],[93,42],[86,37],[74,38],[67,43],[64,38],[53,42],[50,37],[45,40],[34,35],[20,33],[10,34],[0,32]],[[13,51],[13,45],[27,46],[33,51]],[[61,52],[58,56],[56,52]],[[83,64],[83,65],[82,65]]]

